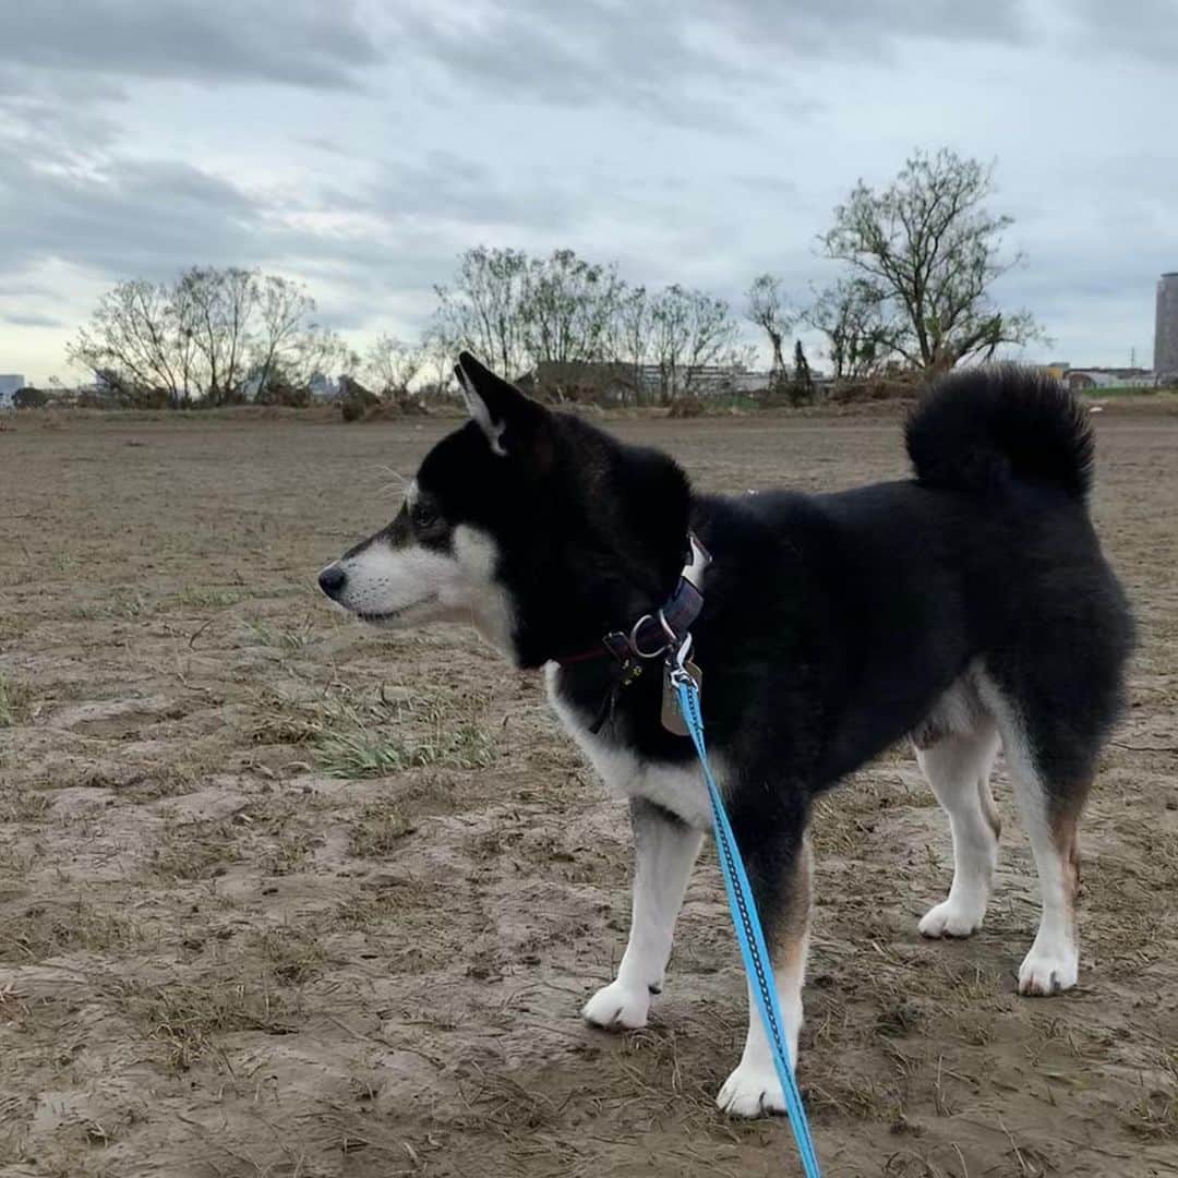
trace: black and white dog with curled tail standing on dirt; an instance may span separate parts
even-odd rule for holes
[[[690,582],[703,598],[690,631],[708,746],[792,1055],[810,803],[905,735],[953,835],[948,898],[920,932],[967,937],[981,924],[1001,747],[1043,889],[1019,992],[1076,985],[1077,822],[1132,629],[1088,519],[1093,438],[1071,393],[1013,368],[949,376],[908,422],[913,479],[726,498],[693,494],[669,457],[549,411],[469,355],[457,372],[474,419],[425,456],[392,523],[319,583],[365,621],[469,618],[517,666],[547,667],[565,727],[629,800],[630,939],[588,1021],[646,1024],[709,828],[691,742],[662,723],[661,663],[631,649],[663,641],[661,607],[676,633]],[[689,534],[712,555],[706,570]],[[694,568],[681,571],[688,551]],[[755,1015],[717,1103],[746,1117],[783,1108]]]

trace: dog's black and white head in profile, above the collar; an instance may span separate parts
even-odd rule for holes
[[[556,413],[463,352],[471,421],[422,462],[386,528],[319,574],[366,622],[469,620],[522,667],[662,603],[690,494],[670,458]]]

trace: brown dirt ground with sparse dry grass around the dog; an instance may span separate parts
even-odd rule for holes
[[[1132,709],[1084,826],[1081,986],[1037,914],[925,942],[948,830],[905,749],[816,819],[800,1080],[829,1176],[1178,1174],[1178,416],[1098,419]],[[315,571],[446,428],[19,418],[0,434],[0,1176],[795,1173],[713,1105],[744,986],[710,852],[648,1030],[583,1026],[627,819],[534,675],[378,635]],[[627,422],[707,489],[899,475],[885,418]]]

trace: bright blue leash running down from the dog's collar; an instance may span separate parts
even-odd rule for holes
[[[717,858],[724,876],[724,891],[728,893],[728,907],[732,909],[733,927],[736,929],[736,942],[740,945],[740,955],[744,959],[744,972],[750,980],[755,981],[755,985],[749,988],[753,992],[757,1013],[761,1015],[761,1024],[765,1026],[765,1033],[773,1051],[773,1066],[777,1071],[781,1091],[786,1097],[786,1112],[789,1114],[789,1127],[794,1131],[794,1140],[798,1143],[802,1170],[806,1172],[806,1178],[821,1178],[818,1154],[814,1152],[814,1143],[810,1140],[809,1123],[806,1120],[806,1108],[802,1105],[801,1093],[798,1091],[798,1081],[789,1067],[789,1054],[782,1038],[781,1007],[777,1005],[777,986],[773,978],[769,951],[765,944],[765,933],[761,932],[761,920],[756,914],[753,888],[744,873],[740,848],[736,846],[736,838],[728,822],[728,814],[724,812],[723,799],[720,796],[715,779],[712,776],[712,768],[708,765],[708,752],[703,744],[703,717],[700,715],[700,689],[691,676],[683,670],[687,650],[683,649],[677,660],[679,666],[674,667],[670,673],[671,683],[679,700],[679,710],[683,714],[683,723],[687,724],[688,735],[700,756],[703,780],[708,783]]]

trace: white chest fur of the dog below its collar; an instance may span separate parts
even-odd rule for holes
[[[549,663],[545,673],[548,700],[581,750],[601,774],[605,788],[618,799],[644,798],[701,830],[710,828],[712,805],[699,765],[694,761],[684,766],[643,761],[624,746],[595,736],[589,732],[584,717],[557,694],[556,670],[556,664]],[[717,765],[713,757],[712,769],[722,789],[722,762]]]

